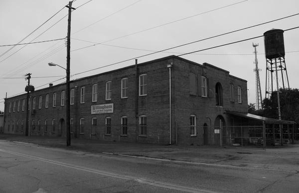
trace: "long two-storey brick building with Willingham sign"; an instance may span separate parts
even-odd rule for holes
[[[219,144],[215,128],[239,121],[226,111],[248,111],[247,81],[177,56],[74,80],[70,88],[77,138]],[[5,99],[4,133],[25,134],[25,107],[26,94]],[[30,93],[29,134],[65,136],[65,84]]]

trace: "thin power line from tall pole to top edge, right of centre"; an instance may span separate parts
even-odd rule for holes
[[[160,24],[160,25],[157,25],[157,26],[154,26],[154,27],[150,27],[150,28],[147,28],[147,29],[144,29],[144,30],[141,30],[141,31],[133,32],[133,33],[130,33],[130,34],[127,34],[127,35],[123,35],[123,36],[120,36],[120,37],[116,37],[114,39],[106,40],[106,41],[103,41],[101,43],[106,43],[106,42],[110,42],[110,41],[113,41],[113,40],[116,40],[116,39],[120,39],[120,38],[123,38],[123,37],[134,35],[134,34],[137,34],[137,33],[145,32],[145,31],[148,31],[150,29],[154,29],[154,28],[158,28],[158,27],[161,27],[161,26],[164,26],[164,25],[168,25],[168,24],[171,24],[171,23],[182,21],[184,19],[189,19],[191,17],[195,17],[195,16],[198,16],[198,15],[201,15],[201,14],[209,13],[209,12],[212,12],[212,11],[215,11],[215,10],[219,10],[219,9],[222,9],[222,8],[225,8],[225,7],[228,7],[228,6],[232,6],[232,5],[235,5],[235,4],[238,4],[238,3],[242,3],[242,2],[245,2],[245,1],[248,1],[248,0],[242,0],[242,1],[239,1],[239,2],[236,2],[236,3],[232,3],[232,4],[229,4],[229,5],[225,5],[225,6],[222,6],[222,7],[215,8],[215,9],[211,9],[211,10],[208,10],[208,11],[205,11],[205,12],[201,12],[201,13],[198,13],[198,14],[195,14],[195,15],[183,17],[181,19],[170,21],[170,22],[167,22],[167,23],[164,23],[164,24]],[[85,49],[85,48],[89,48],[89,47],[92,47],[92,46],[96,46],[96,45],[99,45],[101,43],[97,43],[97,44],[85,46],[85,47],[82,47],[82,48],[74,49],[74,50],[71,50],[71,52],[78,51],[78,50]]]

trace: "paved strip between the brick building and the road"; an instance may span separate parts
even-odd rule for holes
[[[210,166],[250,167],[266,170],[299,171],[299,144],[275,148],[245,149],[217,146],[181,146],[140,143],[107,142],[89,139],[66,139],[47,136],[20,136],[0,134],[0,140],[32,143],[45,147],[104,153],[117,156],[161,159],[161,161],[188,162]]]

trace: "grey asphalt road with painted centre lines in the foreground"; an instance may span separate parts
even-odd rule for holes
[[[95,154],[0,141],[2,193],[297,193],[290,170]]]

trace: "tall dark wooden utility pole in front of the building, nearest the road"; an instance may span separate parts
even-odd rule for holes
[[[68,25],[67,25],[67,56],[66,56],[66,146],[71,145],[71,126],[70,126],[70,50],[71,50],[71,13],[72,1],[69,1],[69,4],[66,7],[69,8],[68,14]]]

